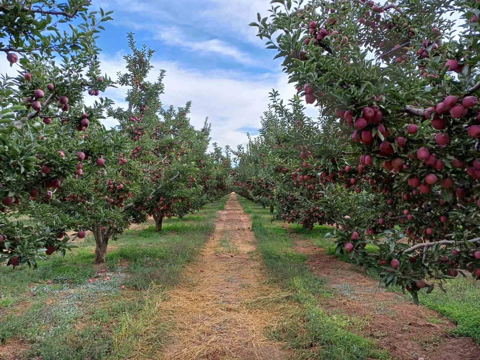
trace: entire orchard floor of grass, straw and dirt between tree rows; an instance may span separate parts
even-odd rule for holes
[[[2,267],[0,359],[480,359],[477,283],[429,295],[468,312],[458,331],[312,234],[230,194],[160,233],[133,226],[102,266],[90,239],[38,270]]]

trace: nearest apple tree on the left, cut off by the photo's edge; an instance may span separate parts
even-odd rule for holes
[[[95,43],[101,23],[111,17],[103,10],[89,12],[90,5],[83,0],[0,5],[1,61],[10,64],[0,83],[0,259],[13,266],[35,265],[53,248],[65,252],[72,246],[63,230],[77,222],[40,205],[54,201],[64,182],[78,177],[84,130],[99,126],[109,103],[84,106],[85,92],[95,96],[112,84],[100,74]],[[12,219],[16,213],[35,218],[39,207],[48,224]]]

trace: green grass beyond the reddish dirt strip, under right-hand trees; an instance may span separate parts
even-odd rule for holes
[[[332,240],[325,238],[325,235],[331,232],[333,228],[315,226],[312,231],[309,231],[303,229],[300,225],[291,225],[290,227],[295,233],[309,239],[312,244],[323,248],[329,255],[336,255],[341,260],[350,262],[346,254],[336,253],[336,245]],[[366,249],[369,252],[378,251],[378,248],[372,244],[368,244]],[[380,278],[378,271],[375,269],[369,269],[368,274],[373,278]],[[469,336],[480,344],[480,282],[472,278],[458,277],[448,280],[445,287],[447,288],[446,294],[439,288],[435,288],[431,294],[426,294],[426,289],[422,290],[419,293],[420,304],[438,311],[455,322],[457,326],[452,330],[452,335]],[[388,290],[401,291],[400,287],[391,287]],[[406,297],[411,301],[411,296],[408,293]]]

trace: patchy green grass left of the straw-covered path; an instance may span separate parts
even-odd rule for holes
[[[0,344],[22,338],[33,344],[25,358],[43,360],[124,359],[144,339],[152,340],[152,351],[158,348],[165,325],[150,324],[145,334],[144,323],[198,255],[226,201],[168,219],[161,232],[154,226],[125,231],[109,244],[103,266],[108,281],[106,274],[96,275],[93,239],[65,257],[54,254],[39,261],[36,270],[0,267]],[[88,278],[98,280],[88,283]]]

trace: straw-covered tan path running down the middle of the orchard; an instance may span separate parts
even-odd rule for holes
[[[283,343],[268,340],[266,331],[295,305],[286,300],[291,294],[264,284],[261,263],[251,256],[251,226],[231,194],[201,256],[161,304],[173,328],[157,359],[286,359]]]

